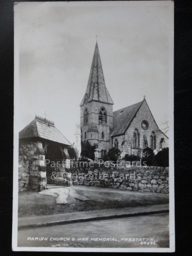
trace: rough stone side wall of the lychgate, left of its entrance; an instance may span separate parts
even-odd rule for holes
[[[46,189],[45,156],[39,141],[20,141],[19,191]]]

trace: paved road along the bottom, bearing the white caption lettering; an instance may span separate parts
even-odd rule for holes
[[[30,238],[29,238],[30,237]],[[36,240],[35,240],[36,237]],[[45,239],[44,239],[45,238]],[[54,241],[53,238],[60,239]],[[72,240],[75,238],[75,240]],[[78,240],[78,238],[80,238]],[[84,238],[82,240],[82,238]],[[86,241],[85,238],[88,238]],[[91,241],[91,238],[102,238]],[[109,238],[111,241],[104,241]],[[124,238],[132,238],[125,240]],[[133,238],[135,241],[133,241]],[[152,244],[140,244],[151,238]],[[34,239],[34,240],[33,240]],[[41,241],[39,239],[42,239]],[[114,241],[115,240],[115,241]],[[137,240],[137,241],[136,241]],[[155,242],[155,243],[154,243]],[[154,244],[153,244],[154,243]],[[169,247],[168,213],[82,222],[18,231],[18,246],[36,247]]]

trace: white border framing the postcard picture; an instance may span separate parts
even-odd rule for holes
[[[28,2],[21,2],[28,4]],[[32,2],[30,2],[32,3]],[[36,2],[33,2],[34,4]],[[12,211],[12,250],[13,251],[39,251],[39,252],[174,252],[175,251],[175,218],[174,218],[174,86],[173,86],[173,56],[174,56],[174,2],[173,1],[98,1],[98,2],[46,2],[46,4],[61,4],[70,6],[91,6],[110,4],[129,4],[130,6],[163,6],[167,5],[170,10],[170,37],[169,37],[169,175],[170,175],[170,193],[169,193],[169,233],[170,248],[56,248],[56,247],[18,247],[17,229],[18,229],[18,156],[19,156],[19,38],[18,38],[18,16],[15,13],[17,5],[14,4],[14,148],[13,148],[13,211]]]

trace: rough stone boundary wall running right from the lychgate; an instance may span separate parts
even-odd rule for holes
[[[169,167],[73,167],[68,172],[74,185],[169,193]]]

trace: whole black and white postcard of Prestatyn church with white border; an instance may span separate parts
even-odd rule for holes
[[[175,251],[173,38],[173,1],[14,4],[13,251]]]

